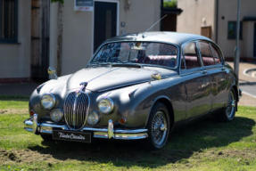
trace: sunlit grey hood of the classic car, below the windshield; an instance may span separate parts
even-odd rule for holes
[[[76,89],[80,83],[87,82],[87,89],[94,92],[103,92],[121,86],[136,85],[151,79],[152,74],[159,73],[161,77],[170,77],[177,72],[170,69],[155,67],[122,68],[97,67],[80,69],[67,79],[67,89]]]

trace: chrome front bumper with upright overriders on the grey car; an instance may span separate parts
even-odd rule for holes
[[[37,114],[33,118],[24,121],[24,129],[35,134],[53,134],[53,129],[70,130],[66,125],[56,125],[49,123],[38,123]],[[84,127],[80,131],[93,133],[94,138],[118,139],[118,140],[138,140],[148,137],[147,129],[114,129],[113,122],[110,119],[107,128]]]

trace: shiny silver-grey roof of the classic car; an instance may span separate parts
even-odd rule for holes
[[[149,42],[165,42],[170,44],[182,45],[187,41],[198,40],[198,39],[211,41],[210,38],[202,37],[194,34],[155,31],[155,32],[142,32],[142,33],[136,33],[136,34],[127,34],[119,37],[113,37],[106,40],[105,43],[116,42],[116,41],[149,41]]]

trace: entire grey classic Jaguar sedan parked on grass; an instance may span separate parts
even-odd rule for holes
[[[114,37],[84,69],[39,85],[25,129],[46,140],[145,139],[153,149],[182,121],[235,117],[239,88],[211,39],[172,32]]]

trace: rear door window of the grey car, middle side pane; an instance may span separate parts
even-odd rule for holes
[[[200,53],[202,56],[202,63],[204,66],[214,65],[214,59],[211,53],[211,47],[207,42],[198,42]]]

